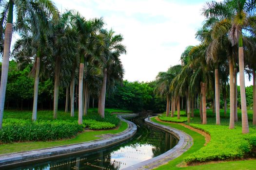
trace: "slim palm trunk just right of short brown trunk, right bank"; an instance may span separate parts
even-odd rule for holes
[[[216,124],[220,125],[219,117],[219,78],[218,78],[218,69],[215,69],[215,105],[216,105]]]

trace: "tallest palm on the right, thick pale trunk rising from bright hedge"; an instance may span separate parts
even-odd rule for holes
[[[225,0],[223,2],[208,2],[206,4],[204,15],[206,17],[219,17],[221,19],[230,19],[232,27],[229,31],[229,39],[232,45],[238,45],[239,71],[240,71],[240,96],[242,110],[242,133],[249,133],[245,83],[244,83],[244,50],[242,29],[248,27],[250,15],[256,8],[254,0]]]

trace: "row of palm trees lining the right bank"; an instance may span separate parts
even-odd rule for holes
[[[158,74],[156,92],[169,98],[168,100],[170,100],[171,94],[173,103],[180,97],[186,98],[188,122],[190,115],[193,116],[193,113],[190,113],[193,112],[193,99],[195,97],[200,98],[199,111],[202,124],[207,123],[206,98],[213,99],[216,124],[220,125],[220,88],[223,90],[223,100],[226,107],[226,89],[229,84],[229,128],[233,129],[235,121],[237,121],[236,76],[237,71],[239,71],[242,133],[249,133],[244,74],[247,72],[249,77],[253,74],[253,124],[256,124],[256,65],[254,59],[256,52],[256,2],[252,0],[211,1],[204,5],[202,11],[205,21],[196,34],[200,44],[189,46],[182,53],[182,64],[178,65],[181,67],[178,74],[171,71],[178,66]],[[166,75],[168,77],[165,77]],[[169,108],[168,100],[166,113],[168,113]],[[179,107],[179,105],[177,106]],[[224,110],[224,114],[226,114],[226,108]]]

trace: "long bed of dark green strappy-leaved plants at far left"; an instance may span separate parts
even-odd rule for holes
[[[30,122],[5,119],[5,122],[0,130],[0,143],[70,138],[82,132],[85,127],[68,120]]]

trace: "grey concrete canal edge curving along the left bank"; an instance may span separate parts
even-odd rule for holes
[[[19,153],[0,154],[0,167],[6,167],[17,163],[26,163],[31,161],[39,161],[57,156],[64,156],[68,154],[82,153],[96,151],[102,148],[116,145],[127,139],[130,139],[136,134],[137,126],[135,123],[125,120],[123,118],[136,117],[138,114],[118,115],[118,118],[128,123],[128,128],[116,135],[104,139],[97,139],[93,141],[63,145],[58,147],[44,148]]]

